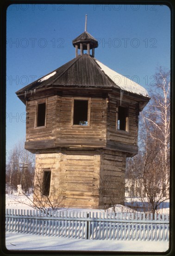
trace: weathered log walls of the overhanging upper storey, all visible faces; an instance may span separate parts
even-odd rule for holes
[[[106,104],[105,98],[91,98],[90,125],[86,127],[72,125],[72,97],[57,95],[48,97],[46,128],[35,128],[37,103],[35,100],[28,101],[25,148],[30,150],[99,147],[121,150],[132,155],[137,154],[137,104],[131,104],[126,99],[122,99],[122,104],[129,104],[129,132],[125,132],[116,129],[116,110],[119,101],[112,94],[108,100]]]

